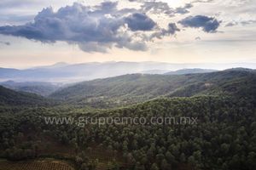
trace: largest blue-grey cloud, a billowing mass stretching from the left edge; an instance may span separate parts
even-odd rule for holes
[[[86,52],[107,52],[108,48],[146,50],[146,31],[160,28],[147,14],[132,8],[117,8],[118,3],[104,2],[98,6],[72,6],[44,8],[21,26],[0,26],[0,34],[26,37],[40,42],[64,41],[78,44]],[[136,13],[134,13],[136,11]],[[166,34],[167,35],[167,34]]]

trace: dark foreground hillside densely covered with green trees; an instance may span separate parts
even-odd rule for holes
[[[4,133],[0,136],[0,156],[2,153],[9,160],[37,158],[47,150],[48,156],[63,160],[68,156],[78,167],[83,162],[83,167],[90,167],[94,160],[99,162],[97,166],[108,161],[108,167],[102,168],[105,170],[124,165],[125,169],[160,170],[253,170],[256,167],[255,100],[198,96],[154,99],[125,108],[79,114],[74,114],[75,109],[69,112],[40,107],[13,112],[4,111],[0,115],[0,132]],[[44,116],[143,117],[149,124],[46,126]],[[175,119],[158,124],[156,119],[151,122],[152,117]],[[182,121],[183,117],[188,122]]]

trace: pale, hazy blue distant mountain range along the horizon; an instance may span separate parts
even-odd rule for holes
[[[0,82],[80,82],[96,78],[116,77],[125,74],[189,74],[209,72],[233,67],[256,68],[256,64],[170,64],[162,62],[91,62],[82,64],[56,63],[19,70],[0,68]],[[201,68],[201,70],[194,69]],[[177,71],[183,69],[183,71]],[[185,69],[185,70],[184,70]],[[189,70],[186,70],[189,69]]]

